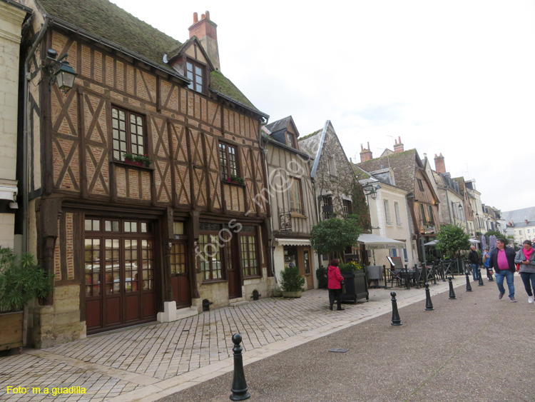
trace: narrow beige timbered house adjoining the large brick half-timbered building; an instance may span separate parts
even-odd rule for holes
[[[273,271],[277,276],[285,267],[297,266],[306,279],[306,288],[311,289],[317,287],[317,258],[310,246],[310,230],[317,223],[310,177],[312,158],[299,149],[299,131],[292,116],[263,126],[263,131],[272,211]]]

